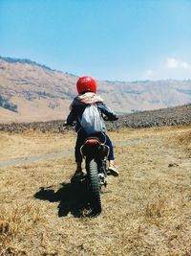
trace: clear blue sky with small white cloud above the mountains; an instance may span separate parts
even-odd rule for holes
[[[97,80],[191,79],[191,0],[0,0],[0,56]]]

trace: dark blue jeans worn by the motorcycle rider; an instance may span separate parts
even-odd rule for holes
[[[103,132],[98,132],[96,134],[94,134],[95,137],[99,138],[100,141],[102,143],[105,142],[105,145],[107,145],[110,148],[110,152],[108,155],[108,160],[114,160],[114,148],[112,145],[112,142],[110,140],[110,138]],[[84,144],[84,140],[89,137],[83,130],[80,130],[77,133],[77,139],[76,139],[76,144],[75,144],[75,151],[74,151],[74,155],[75,155],[75,162],[82,162],[82,156],[80,153],[80,148],[81,146]]]

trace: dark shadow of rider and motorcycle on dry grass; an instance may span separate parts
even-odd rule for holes
[[[72,178],[69,183],[62,183],[61,188],[54,191],[52,187],[41,187],[34,198],[59,201],[58,216],[64,217],[71,213],[75,218],[96,217],[97,213],[91,208],[90,191],[86,178]]]

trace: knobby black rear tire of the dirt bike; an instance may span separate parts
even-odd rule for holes
[[[90,187],[92,194],[92,206],[96,214],[101,212],[101,199],[100,199],[100,182],[98,177],[98,167],[95,159],[87,162],[89,171]]]

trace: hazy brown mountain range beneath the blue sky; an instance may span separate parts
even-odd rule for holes
[[[30,59],[0,58],[0,122],[64,119],[78,77]],[[188,81],[98,81],[98,93],[118,113],[191,102]]]

